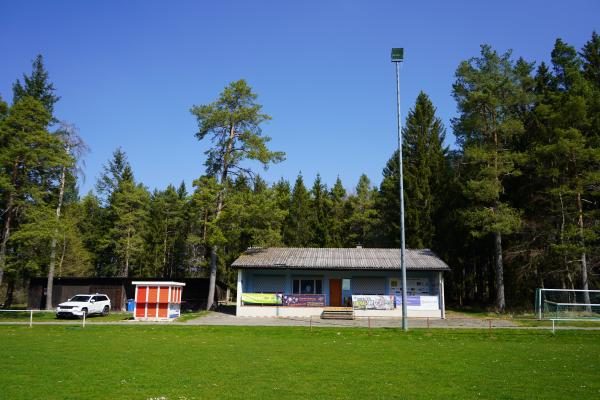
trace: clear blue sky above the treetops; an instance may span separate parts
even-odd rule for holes
[[[390,49],[404,47],[405,118],[427,93],[454,146],[452,83],[481,44],[547,61],[554,41],[581,48],[600,31],[594,1],[0,1],[0,95],[44,56],[58,119],[90,147],[81,192],[121,147],[150,190],[204,173],[193,105],[245,79],[273,117],[263,133],[286,161],[267,181],[319,173],[374,185],[397,146]]]

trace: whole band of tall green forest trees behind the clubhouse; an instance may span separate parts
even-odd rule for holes
[[[600,282],[600,36],[557,39],[549,62],[482,45],[455,71],[451,126],[421,92],[403,121],[406,243],[452,269],[446,302],[498,312],[533,306],[538,287]],[[9,79],[14,79],[9,77]],[[30,277],[210,277],[234,288],[248,247],[399,247],[397,152],[382,180],[267,182],[248,165],[271,149],[244,80],[190,105],[190,135],[209,144],[192,187],[149,189],[115,144],[95,190],[79,193],[89,150],[55,115],[60,90],[37,56],[0,98],[0,303],[22,302]],[[447,129],[456,144],[445,143]],[[279,151],[283,150],[283,151]]]

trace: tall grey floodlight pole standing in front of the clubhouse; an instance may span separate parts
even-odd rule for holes
[[[392,49],[392,62],[396,64],[396,101],[398,103],[398,167],[400,168],[400,269],[402,270],[402,329],[408,331],[406,305],[406,264],[404,263],[404,174],[402,172],[402,118],[400,116],[400,64],[404,61],[404,48]]]

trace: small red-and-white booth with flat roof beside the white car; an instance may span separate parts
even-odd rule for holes
[[[179,317],[185,283],[134,281],[136,320],[168,321]]]

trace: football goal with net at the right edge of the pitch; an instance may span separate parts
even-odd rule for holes
[[[600,319],[600,290],[537,289],[535,297],[539,319]]]

